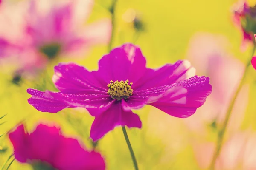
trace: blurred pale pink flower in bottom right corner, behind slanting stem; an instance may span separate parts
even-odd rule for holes
[[[235,133],[223,144],[215,170],[255,170],[256,169],[256,133]],[[199,167],[209,167],[214,143],[197,144],[195,158]]]

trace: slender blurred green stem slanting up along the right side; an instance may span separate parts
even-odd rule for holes
[[[231,116],[231,112],[233,110],[233,106],[235,104],[236,97],[238,96],[239,91],[241,90],[242,86],[244,85],[244,80],[245,80],[246,74],[248,72],[248,68],[250,66],[251,58],[253,57],[253,54],[255,53],[255,50],[256,50],[256,46],[254,45],[253,46],[252,55],[251,55],[250,59],[247,62],[247,65],[245,67],[244,74],[243,74],[243,76],[241,78],[239,86],[236,89],[236,92],[235,92],[235,94],[234,94],[234,96],[233,96],[233,98],[232,98],[232,100],[230,102],[230,105],[229,105],[228,109],[227,109],[227,114],[226,114],[226,117],[224,119],[223,126],[222,126],[221,130],[218,133],[217,145],[216,145],[216,148],[215,148],[215,153],[214,153],[214,155],[212,157],[212,162],[210,164],[210,168],[209,168],[210,170],[215,170],[215,163],[216,163],[216,160],[217,160],[217,158],[219,156],[219,153],[221,152],[221,147],[222,147],[222,143],[223,143],[223,139],[224,139],[224,134],[225,134],[226,129],[227,129],[227,124],[228,124],[229,118]]]

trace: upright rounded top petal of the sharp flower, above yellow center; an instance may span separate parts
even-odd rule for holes
[[[95,74],[102,79],[104,86],[107,86],[110,80],[125,81],[128,79],[134,83],[145,73],[145,63],[140,48],[125,44],[103,56],[99,60],[99,70]]]

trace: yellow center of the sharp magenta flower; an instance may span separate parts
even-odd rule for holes
[[[112,80],[108,84],[108,94],[111,96],[112,99],[121,100],[121,99],[128,99],[132,95],[132,82],[126,81],[115,81]]]

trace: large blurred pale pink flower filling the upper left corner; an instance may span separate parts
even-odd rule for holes
[[[110,38],[110,20],[84,26],[92,0],[26,0],[2,5],[0,57],[14,58],[21,70],[42,68],[60,55],[84,53]]]

